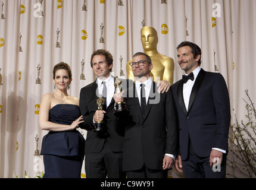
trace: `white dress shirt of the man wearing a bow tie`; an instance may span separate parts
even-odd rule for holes
[[[192,91],[193,85],[195,84],[196,77],[198,76],[200,70],[201,70],[201,67],[198,66],[195,70],[193,70],[194,80],[192,81],[191,79],[189,79],[187,83],[183,84],[183,99],[184,99],[184,103],[185,103],[187,111],[188,111],[188,107],[189,107],[189,98],[191,96],[191,91]],[[188,75],[188,74],[185,74],[185,75]],[[226,150],[222,150],[220,148],[212,148],[212,149],[221,151],[221,153],[226,154]]]

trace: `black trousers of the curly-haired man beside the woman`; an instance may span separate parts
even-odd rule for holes
[[[100,153],[85,154],[85,172],[86,178],[126,178],[123,153],[114,153],[105,143]]]

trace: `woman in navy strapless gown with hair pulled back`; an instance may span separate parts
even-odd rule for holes
[[[61,62],[54,66],[54,93],[45,94],[40,104],[39,125],[48,134],[43,137],[41,154],[43,178],[80,178],[85,156],[85,139],[76,128],[82,123],[79,99],[68,96],[71,69]]]

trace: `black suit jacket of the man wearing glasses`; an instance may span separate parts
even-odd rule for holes
[[[178,128],[171,91],[158,94],[153,82],[144,116],[135,84],[127,94],[124,100],[130,115],[118,125],[124,128],[123,169],[139,170],[143,164],[149,169],[163,169],[164,155],[177,154]]]

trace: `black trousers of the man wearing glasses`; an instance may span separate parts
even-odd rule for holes
[[[168,170],[153,170],[143,165],[139,170],[126,172],[127,178],[167,178]]]

